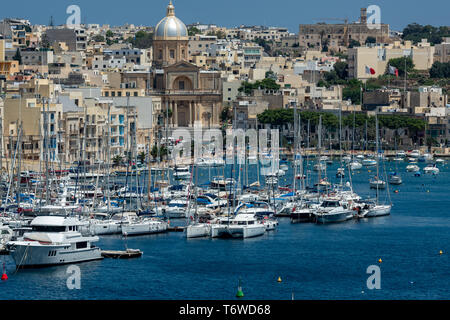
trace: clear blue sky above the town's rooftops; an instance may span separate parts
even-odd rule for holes
[[[0,5],[0,18],[22,17],[34,24],[65,23],[66,8],[81,8],[82,22],[120,25],[155,25],[165,16],[169,0],[22,0]],[[176,15],[186,24],[214,23],[221,26],[270,25],[298,32],[301,23],[321,18],[348,18],[355,21],[359,10],[369,5],[381,8],[382,23],[402,30],[408,23],[450,25],[448,0],[174,0]],[[318,20],[316,20],[318,19]],[[338,23],[329,21],[328,23]]]

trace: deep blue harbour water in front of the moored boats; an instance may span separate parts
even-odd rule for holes
[[[405,167],[398,167],[403,184],[391,186],[394,207],[387,217],[332,225],[279,219],[277,231],[246,240],[186,239],[178,232],[129,237],[126,245],[143,256],[79,264],[79,290],[67,288],[67,266],[16,272],[6,256],[0,259],[9,279],[0,283],[0,299],[234,299],[239,279],[245,299],[448,299],[450,169],[414,177]],[[336,168],[328,167],[332,181]],[[352,175],[362,196],[375,195],[368,184],[373,171]],[[202,170],[199,182],[211,174]],[[291,177],[290,167],[281,182]],[[125,240],[105,236],[98,246],[123,249]],[[381,269],[379,290],[367,288],[370,265]]]

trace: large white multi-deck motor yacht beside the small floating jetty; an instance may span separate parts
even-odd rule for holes
[[[98,237],[85,237],[76,218],[40,216],[31,222],[32,231],[21,241],[8,242],[17,268],[45,267],[102,259],[100,248],[92,243]]]

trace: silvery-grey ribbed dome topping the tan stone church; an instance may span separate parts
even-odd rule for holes
[[[155,40],[188,40],[186,25],[175,17],[175,7],[170,1],[167,6],[167,15],[155,28]]]

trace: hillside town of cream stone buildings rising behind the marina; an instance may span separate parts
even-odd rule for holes
[[[367,137],[376,114],[385,149],[449,152],[448,27],[372,29],[363,8],[357,21],[300,24],[294,34],[283,27],[185,25],[171,2],[165,14],[159,9],[156,26],[3,19],[2,159],[17,148],[23,160],[45,156],[61,165],[81,157],[106,161],[107,153],[125,157],[130,149],[154,157],[165,130],[191,130],[198,121],[203,128],[276,126],[288,149],[294,108],[304,114],[305,133],[313,120],[311,137],[314,119],[327,116],[330,146],[339,139],[339,114],[347,116],[346,141]]]

